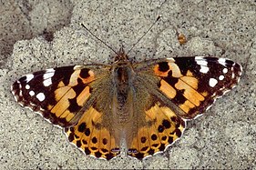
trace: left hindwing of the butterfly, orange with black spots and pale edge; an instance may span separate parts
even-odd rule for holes
[[[71,144],[76,145],[86,155],[97,158],[111,159],[120,154],[119,134],[113,129],[113,122],[104,114],[108,114],[108,109],[98,111],[91,106],[82,115],[77,125],[65,128],[67,139]]]

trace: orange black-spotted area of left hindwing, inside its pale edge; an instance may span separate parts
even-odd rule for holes
[[[86,125],[83,131],[79,130],[79,125]],[[82,117],[79,119],[77,125],[74,126],[75,138],[72,142],[76,145],[77,142],[81,142],[79,146],[83,150],[88,149],[89,155],[108,158],[108,155],[116,156],[119,152],[118,145],[115,137],[110,133],[107,127],[102,124],[102,113],[98,112],[92,106],[84,112]],[[67,132],[69,135],[70,132]]]

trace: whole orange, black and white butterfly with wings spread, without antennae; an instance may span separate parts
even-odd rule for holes
[[[64,129],[86,155],[143,159],[177,141],[186,122],[238,84],[241,65],[210,56],[133,62],[121,47],[109,65],[73,65],[22,76],[15,100]]]

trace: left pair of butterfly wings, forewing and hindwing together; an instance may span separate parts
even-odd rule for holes
[[[119,143],[110,126],[113,119],[108,108],[109,68],[107,65],[51,68],[21,77],[12,85],[12,92],[20,105],[36,111],[54,125],[66,127],[69,142],[85,154],[110,159],[119,154]]]

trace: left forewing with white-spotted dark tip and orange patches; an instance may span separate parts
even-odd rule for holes
[[[97,67],[51,68],[21,77],[12,85],[12,93],[20,105],[36,111],[54,125],[65,127],[77,124],[88,107],[91,84],[102,76]]]

